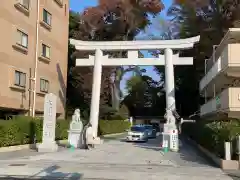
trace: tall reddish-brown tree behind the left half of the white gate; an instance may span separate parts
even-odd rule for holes
[[[78,40],[113,41],[132,40],[150,22],[148,14],[163,9],[159,0],[99,0],[96,7],[87,8],[82,14],[71,12],[70,37]],[[68,106],[89,109],[92,68],[74,67],[76,56],[88,57],[92,52],[69,51]],[[119,54],[119,52],[114,52]],[[124,55],[124,52],[120,52]],[[116,68],[103,68],[101,105],[111,105],[111,75]]]

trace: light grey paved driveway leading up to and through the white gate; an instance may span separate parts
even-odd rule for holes
[[[109,140],[93,150],[61,149],[56,153],[2,159],[0,174],[101,180],[231,180],[185,141],[178,153],[162,153],[160,138],[148,143]],[[1,157],[1,156],[0,156]]]

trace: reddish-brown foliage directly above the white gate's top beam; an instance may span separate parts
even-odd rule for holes
[[[113,31],[117,30],[116,34],[123,35],[145,28],[148,24],[147,13],[156,14],[163,8],[161,0],[99,0],[98,6],[83,12],[81,19],[84,25],[81,26],[85,26],[83,29],[86,32],[93,30],[99,34],[106,28],[112,28]]]

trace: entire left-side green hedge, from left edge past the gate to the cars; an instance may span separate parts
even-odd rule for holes
[[[57,120],[56,140],[67,139],[69,120]],[[36,141],[42,140],[42,119],[32,119],[23,116],[13,120],[0,120],[0,147],[32,144],[36,134]],[[123,120],[101,120],[99,123],[100,135],[124,132],[129,123]]]

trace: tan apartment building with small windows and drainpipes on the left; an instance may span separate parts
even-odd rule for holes
[[[41,116],[46,93],[64,115],[68,23],[69,0],[1,0],[0,118]]]

